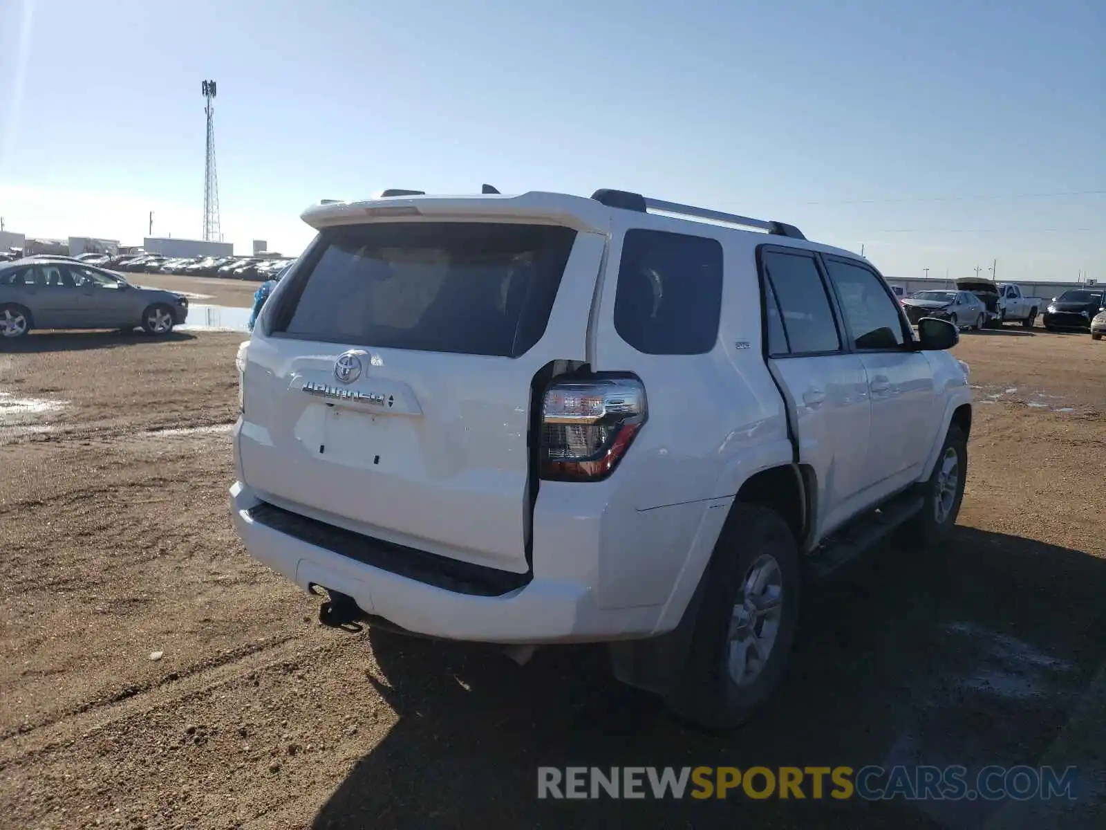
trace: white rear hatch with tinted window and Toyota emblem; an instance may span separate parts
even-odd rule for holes
[[[533,217],[323,228],[250,344],[246,484],[354,532],[525,572],[532,384],[585,360],[603,250],[599,234]]]

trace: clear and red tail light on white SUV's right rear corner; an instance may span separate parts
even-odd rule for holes
[[[636,378],[553,384],[542,401],[541,477],[554,481],[606,478],[647,418],[645,386]]]

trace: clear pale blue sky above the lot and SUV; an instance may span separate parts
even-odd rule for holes
[[[0,0],[8,230],[295,253],[319,198],[618,187],[890,277],[1106,279],[1102,0]]]

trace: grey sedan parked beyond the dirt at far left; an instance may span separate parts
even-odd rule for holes
[[[142,326],[164,335],[188,317],[188,299],[137,288],[121,276],[60,258],[0,264],[0,335],[22,338],[32,329]]]

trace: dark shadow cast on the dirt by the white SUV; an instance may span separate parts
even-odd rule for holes
[[[784,686],[709,733],[611,679],[602,646],[539,651],[372,631],[398,723],[316,815],[354,827],[981,827],[1004,802],[539,800],[538,767],[1033,765],[1106,660],[1106,561],[957,528],[921,554],[887,547],[811,591]],[[998,805],[998,807],[997,807]]]

